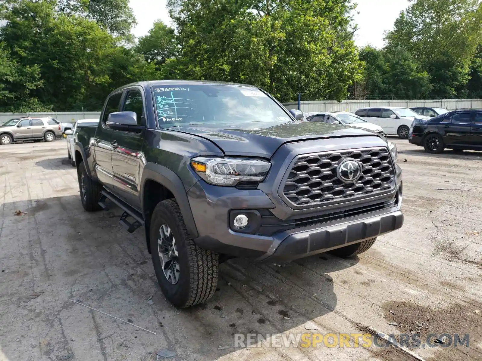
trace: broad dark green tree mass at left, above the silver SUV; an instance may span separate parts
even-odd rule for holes
[[[96,22],[56,12],[54,1],[20,0],[3,13],[0,41],[21,69],[36,69],[43,87],[32,96],[55,110],[98,110],[107,94],[156,77],[133,49],[116,45]]]

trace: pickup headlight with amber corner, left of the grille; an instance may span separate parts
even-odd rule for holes
[[[191,167],[208,183],[233,187],[239,181],[263,181],[271,163],[260,159],[201,156],[191,159]]]

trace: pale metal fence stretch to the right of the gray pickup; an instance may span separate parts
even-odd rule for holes
[[[283,103],[286,109],[298,109],[297,102]],[[446,99],[446,100],[345,100],[335,102],[326,101],[301,101],[301,110],[308,112],[355,112],[357,109],[368,106],[401,106],[413,108],[428,106],[433,108],[457,109],[482,109],[482,99]]]

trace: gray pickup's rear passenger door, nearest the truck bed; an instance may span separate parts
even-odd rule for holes
[[[94,169],[97,174],[97,178],[107,188],[113,188],[114,173],[112,171],[112,132],[106,122],[110,113],[118,112],[120,105],[120,98],[122,92],[112,94],[107,100],[107,104],[100,120],[100,126],[95,132],[94,149],[95,149],[95,164]]]

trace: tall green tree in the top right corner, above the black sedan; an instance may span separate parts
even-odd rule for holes
[[[431,77],[432,97],[454,97],[469,77],[482,36],[479,0],[412,0],[386,36],[387,49],[405,49]]]

